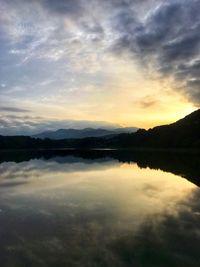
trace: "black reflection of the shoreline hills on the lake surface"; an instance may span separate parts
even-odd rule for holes
[[[154,152],[127,150],[51,150],[51,151],[16,151],[2,152],[0,163],[24,162],[42,159],[58,164],[108,163],[118,161],[137,163],[140,168],[160,169],[180,175],[196,185],[200,185],[200,154],[192,152]]]

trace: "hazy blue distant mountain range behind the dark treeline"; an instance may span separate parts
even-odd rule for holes
[[[36,135],[33,135],[34,138],[45,139],[49,138],[52,140],[61,140],[61,139],[71,139],[71,138],[86,138],[86,137],[102,137],[107,135],[115,135],[120,133],[133,133],[136,132],[137,128],[117,128],[117,129],[59,129],[57,131],[46,131]]]

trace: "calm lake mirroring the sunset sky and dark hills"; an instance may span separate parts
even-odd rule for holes
[[[200,155],[0,154],[1,267],[200,266]]]

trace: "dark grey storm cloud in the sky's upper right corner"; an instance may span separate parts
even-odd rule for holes
[[[200,103],[200,1],[161,1],[141,20],[131,10],[118,13],[115,30],[120,35],[113,49],[129,52],[139,61],[153,65],[164,76],[176,80],[191,101]],[[184,65],[188,62],[188,65]],[[185,76],[186,73],[186,76]]]

